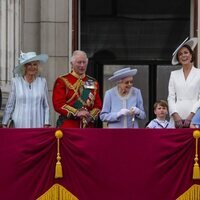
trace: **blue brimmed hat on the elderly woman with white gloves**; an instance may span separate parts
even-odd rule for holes
[[[127,67],[127,68],[123,68],[114,72],[113,76],[111,76],[108,80],[119,81],[123,78],[134,76],[136,73],[137,73],[137,69],[131,69],[130,67]]]

